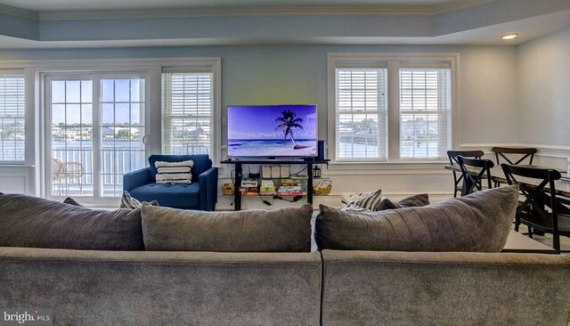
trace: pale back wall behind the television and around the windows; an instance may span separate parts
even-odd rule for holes
[[[327,135],[327,53],[459,53],[460,143],[517,143],[517,50],[515,46],[281,45],[195,46],[85,50],[0,51],[2,60],[221,57],[222,104],[316,103],[319,138]],[[156,108],[155,110],[159,110]],[[224,116],[223,110],[223,116]],[[225,143],[225,135],[222,137]],[[0,167],[0,173],[2,167]],[[452,195],[452,177],[443,164],[341,166],[326,171],[333,193],[382,188],[403,197],[428,192]],[[226,175],[229,175],[226,171]],[[1,175],[0,175],[0,183]],[[338,197],[315,201],[338,203]],[[219,208],[229,208],[224,197]],[[262,205],[256,198],[243,207]]]

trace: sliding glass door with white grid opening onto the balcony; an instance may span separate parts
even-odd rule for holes
[[[123,175],[145,166],[145,77],[45,78],[47,197],[119,197]]]

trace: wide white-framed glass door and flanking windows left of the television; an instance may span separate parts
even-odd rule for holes
[[[46,198],[78,196],[86,204],[115,205],[123,175],[147,167],[163,143],[164,152],[205,151],[214,162],[219,159],[221,58],[2,66],[17,69],[0,69],[0,165],[37,164],[28,170],[42,175],[39,193]],[[165,140],[161,100],[167,109]]]

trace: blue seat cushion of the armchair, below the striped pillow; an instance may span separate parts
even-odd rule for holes
[[[134,188],[131,196],[141,201],[157,200],[160,206],[170,208],[199,207],[199,183],[148,183]]]

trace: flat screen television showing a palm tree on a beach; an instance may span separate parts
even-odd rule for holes
[[[234,105],[227,117],[228,157],[317,156],[316,105]]]

